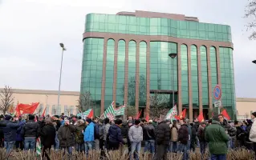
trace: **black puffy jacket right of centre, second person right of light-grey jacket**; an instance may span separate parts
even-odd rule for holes
[[[165,121],[160,122],[156,127],[156,144],[169,146],[171,129]]]

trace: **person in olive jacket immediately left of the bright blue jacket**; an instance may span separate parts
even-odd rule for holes
[[[75,150],[77,152],[83,152],[84,149],[84,142],[83,142],[83,133],[85,124],[83,120],[79,119],[75,125]]]

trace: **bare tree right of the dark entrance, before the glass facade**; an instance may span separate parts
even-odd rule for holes
[[[169,94],[159,94],[157,92],[150,96],[150,117],[154,118],[161,114],[166,115],[169,111]]]

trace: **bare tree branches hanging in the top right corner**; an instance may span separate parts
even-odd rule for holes
[[[246,6],[245,16],[249,22],[247,22],[247,31],[251,31],[249,36],[250,40],[256,39],[256,0],[248,0],[248,5]]]

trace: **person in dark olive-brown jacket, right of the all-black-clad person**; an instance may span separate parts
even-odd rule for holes
[[[65,120],[65,125],[58,130],[59,146],[68,154],[72,154],[72,146],[75,145],[75,126],[69,124],[69,120]]]

